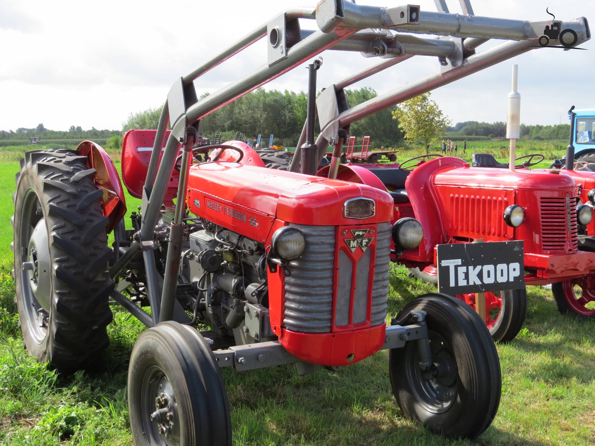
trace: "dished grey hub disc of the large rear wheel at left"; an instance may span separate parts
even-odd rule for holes
[[[27,260],[27,262],[23,262],[23,269],[28,271],[27,275],[33,296],[35,296],[43,310],[49,312],[52,296],[51,260],[49,257],[48,230],[43,218],[37,222],[31,234]]]

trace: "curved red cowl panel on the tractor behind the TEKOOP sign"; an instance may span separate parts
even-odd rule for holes
[[[411,202],[415,218],[424,228],[424,239],[419,244],[417,262],[434,262],[434,246],[446,243],[443,215],[438,203],[440,196],[434,186],[436,174],[445,169],[463,167],[467,164],[461,158],[446,156],[436,158],[416,167],[405,180],[405,190]]]

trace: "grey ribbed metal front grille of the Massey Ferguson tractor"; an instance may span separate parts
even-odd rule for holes
[[[292,331],[330,332],[333,320],[333,272],[335,227],[291,225],[302,230],[306,249],[292,262],[291,275],[285,278],[283,325]],[[356,274],[353,293],[353,323],[365,322],[368,309],[369,269],[375,265],[372,285],[371,326],[385,322],[389,292],[390,223],[378,225],[376,256],[366,250],[353,268],[349,256],[339,251],[339,283],[335,325],[349,325],[352,274]]]

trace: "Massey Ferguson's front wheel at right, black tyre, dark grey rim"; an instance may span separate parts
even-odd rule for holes
[[[476,438],[496,416],[502,376],[490,334],[471,307],[444,294],[425,294],[405,306],[427,313],[433,365],[419,368],[418,341],[389,352],[389,375],[403,414],[451,438]]]

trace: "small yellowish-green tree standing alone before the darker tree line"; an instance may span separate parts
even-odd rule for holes
[[[424,93],[406,100],[392,112],[399,120],[399,128],[405,132],[405,139],[411,142],[430,144],[443,137],[450,120],[442,114],[431,93]]]

